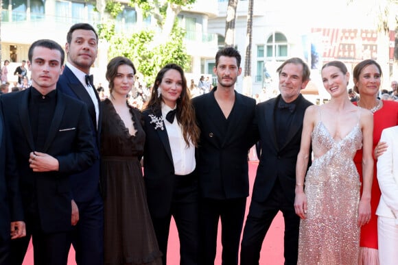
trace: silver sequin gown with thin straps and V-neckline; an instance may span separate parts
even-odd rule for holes
[[[301,220],[297,264],[358,264],[360,180],[353,156],[360,125],[336,142],[320,121],[312,131],[314,162],[305,177],[307,218]]]

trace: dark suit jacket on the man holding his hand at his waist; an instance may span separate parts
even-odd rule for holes
[[[94,143],[89,115],[84,103],[56,93],[54,118],[49,124],[44,153],[56,157],[59,171],[34,173],[29,167],[35,151],[29,115],[30,90],[1,96],[5,126],[10,129],[25,212],[37,203],[43,231],[71,229],[71,187],[69,177],[93,164]]]

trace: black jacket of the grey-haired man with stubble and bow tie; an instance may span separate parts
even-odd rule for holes
[[[253,186],[252,199],[259,202],[263,202],[268,198],[275,181],[279,179],[285,196],[294,203],[296,160],[300,151],[304,112],[312,103],[300,94],[296,101],[296,110],[294,110],[292,125],[285,143],[282,147],[278,147],[278,132],[275,131],[274,110],[275,104],[280,98],[281,95],[259,103],[256,108],[255,121],[261,141],[261,157]],[[311,160],[309,160],[309,165],[310,163]]]

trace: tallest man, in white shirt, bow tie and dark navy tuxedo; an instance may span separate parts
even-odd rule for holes
[[[72,25],[67,34],[67,64],[57,88],[84,103],[90,116],[95,142],[93,166],[71,176],[75,212],[79,223],[73,228],[72,244],[78,265],[104,263],[104,204],[100,194],[100,132],[102,112],[100,97],[93,84],[90,68],[97,58],[98,35],[86,23]]]

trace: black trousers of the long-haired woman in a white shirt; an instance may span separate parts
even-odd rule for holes
[[[176,222],[180,240],[180,264],[198,264],[198,180],[196,174],[174,175],[170,211],[165,216],[151,216],[156,240],[163,253],[163,265],[167,260],[167,241],[172,216]]]

